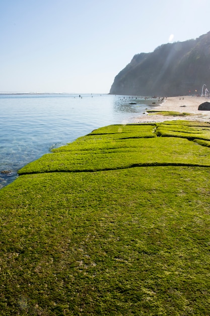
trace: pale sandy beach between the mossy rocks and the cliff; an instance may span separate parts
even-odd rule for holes
[[[210,121],[210,111],[198,111],[198,106],[203,102],[210,102],[209,98],[197,96],[175,96],[168,97],[159,104],[154,106],[157,111],[176,111],[180,113],[190,113],[187,116],[163,116],[150,115],[148,113],[139,117],[133,118],[133,123],[147,123],[147,122],[164,122],[171,120],[189,120],[189,121]],[[157,103],[158,104],[158,103]]]

